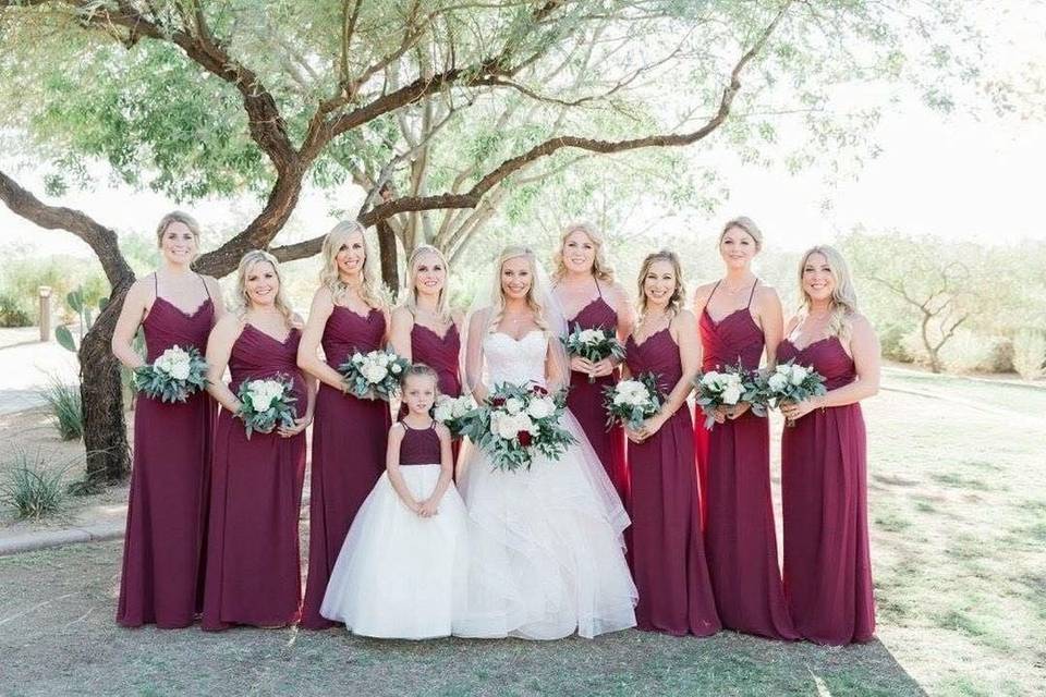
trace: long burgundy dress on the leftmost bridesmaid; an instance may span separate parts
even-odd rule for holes
[[[142,322],[146,360],[153,363],[174,344],[205,353],[214,321],[209,292],[193,313],[157,293]],[[117,622],[123,626],[184,627],[203,609],[215,413],[215,401],[206,392],[173,404],[138,395],[117,610]]]

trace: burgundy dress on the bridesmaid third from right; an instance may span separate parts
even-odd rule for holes
[[[666,393],[682,377],[679,346],[668,328],[642,344],[629,337],[625,348],[632,375],[653,372]],[[677,411],[645,442],[629,442],[629,473],[638,628],[676,636],[715,634],[720,624],[701,538],[690,409]]]

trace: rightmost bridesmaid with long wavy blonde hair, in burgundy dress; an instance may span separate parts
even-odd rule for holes
[[[879,342],[835,248],[803,255],[799,286],[803,305],[786,325],[777,359],[813,367],[828,393],[781,409],[795,421],[781,438],[784,589],[803,638],[867,641],[875,600],[860,402],[879,388]]]

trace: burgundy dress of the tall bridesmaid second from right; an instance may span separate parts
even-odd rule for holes
[[[752,286],[746,307],[718,322],[705,307],[698,326],[702,370],[737,365],[739,359],[745,368],[759,367],[763,330],[750,311],[757,284]],[[696,420],[705,553],[722,626],[775,639],[798,639],[777,565],[768,419],[747,411],[716,424],[710,431],[702,414]]]

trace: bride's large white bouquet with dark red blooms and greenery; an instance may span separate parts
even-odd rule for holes
[[[479,407],[463,417],[461,432],[485,450],[498,469],[530,469],[534,456],[559,460],[577,442],[560,425],[565,393],[538,384],[498,384]]]

